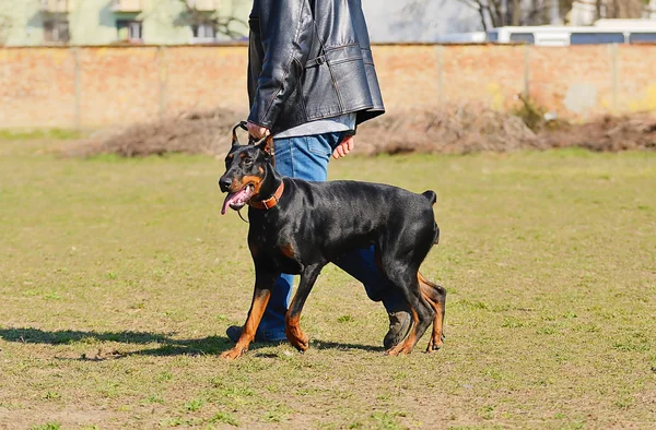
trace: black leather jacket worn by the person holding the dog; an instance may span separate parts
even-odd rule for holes
[[[385,111],[360,0],[254,0],[248,21],[249,121],[276,134]]]

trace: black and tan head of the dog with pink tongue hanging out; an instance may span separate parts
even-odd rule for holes
[[[227,206],[241,210],[260,192],[260,187],[271,163],[273,138],[268,136],[258,144],[233,145],[225,156],[225,174],[219,179],[219,187],[227,195],[223,202],[221,214]]]

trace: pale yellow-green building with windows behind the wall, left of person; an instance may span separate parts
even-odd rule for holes
[[[247,35],[248,0],[0,0],[0,45],[179,45]]]

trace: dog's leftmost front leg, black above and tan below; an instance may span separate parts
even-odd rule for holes
[[[255,291],[253,291],[253,302],[246,318],[246,323],[242,329],[242,336],[237,344],[231,350],[226,350],[221,355],[222,358],[234,360],[244,355],[248,350],[248,346],[255,338],[255,332],[265,314],[265,309],[271,297],[271,288],[278,277],[278,274],[272,272],[258,271],[256,267],[255,275]]]

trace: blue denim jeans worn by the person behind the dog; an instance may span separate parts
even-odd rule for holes
[[[344,138],[343,132],[274,140],[276,170],[282,176],[309,181],[328,179],[332,150]],[[337,266],[360,280],[370,299],[383,301],[388,312],[406,310],[400,291],[389,288],[388,280],[374,263],[374,249],[359,249],[340,256]],[[276,280],[269,304],[258,327],[258,336],[269,341],[285,339],[284,314],[292,297],[294,275],[282,274]]]

